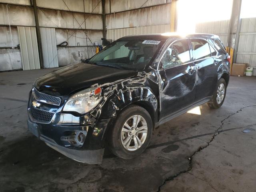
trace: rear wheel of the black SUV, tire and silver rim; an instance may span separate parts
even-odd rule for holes
[[[220,86],[224,86],[224,92],[221,94],[222,91],[220,91]],[[222,88],[221,88],[222,89]],[[223,89],[222,89],[223,90]],[[226,92],[227,92],[227,84],[226,81],[223,78],[220,78],[217,82],[217,86],[214,90],[214,94],[212,96],[212,99],[207,102],[208,106],[212,109],[218,109],[222,106],[225,98],[226,98]],[[223,97],[222,97],[223,96]],[[222,98],[222,99],[220,99]],[[220,99],[220,100],[219,100]]]

